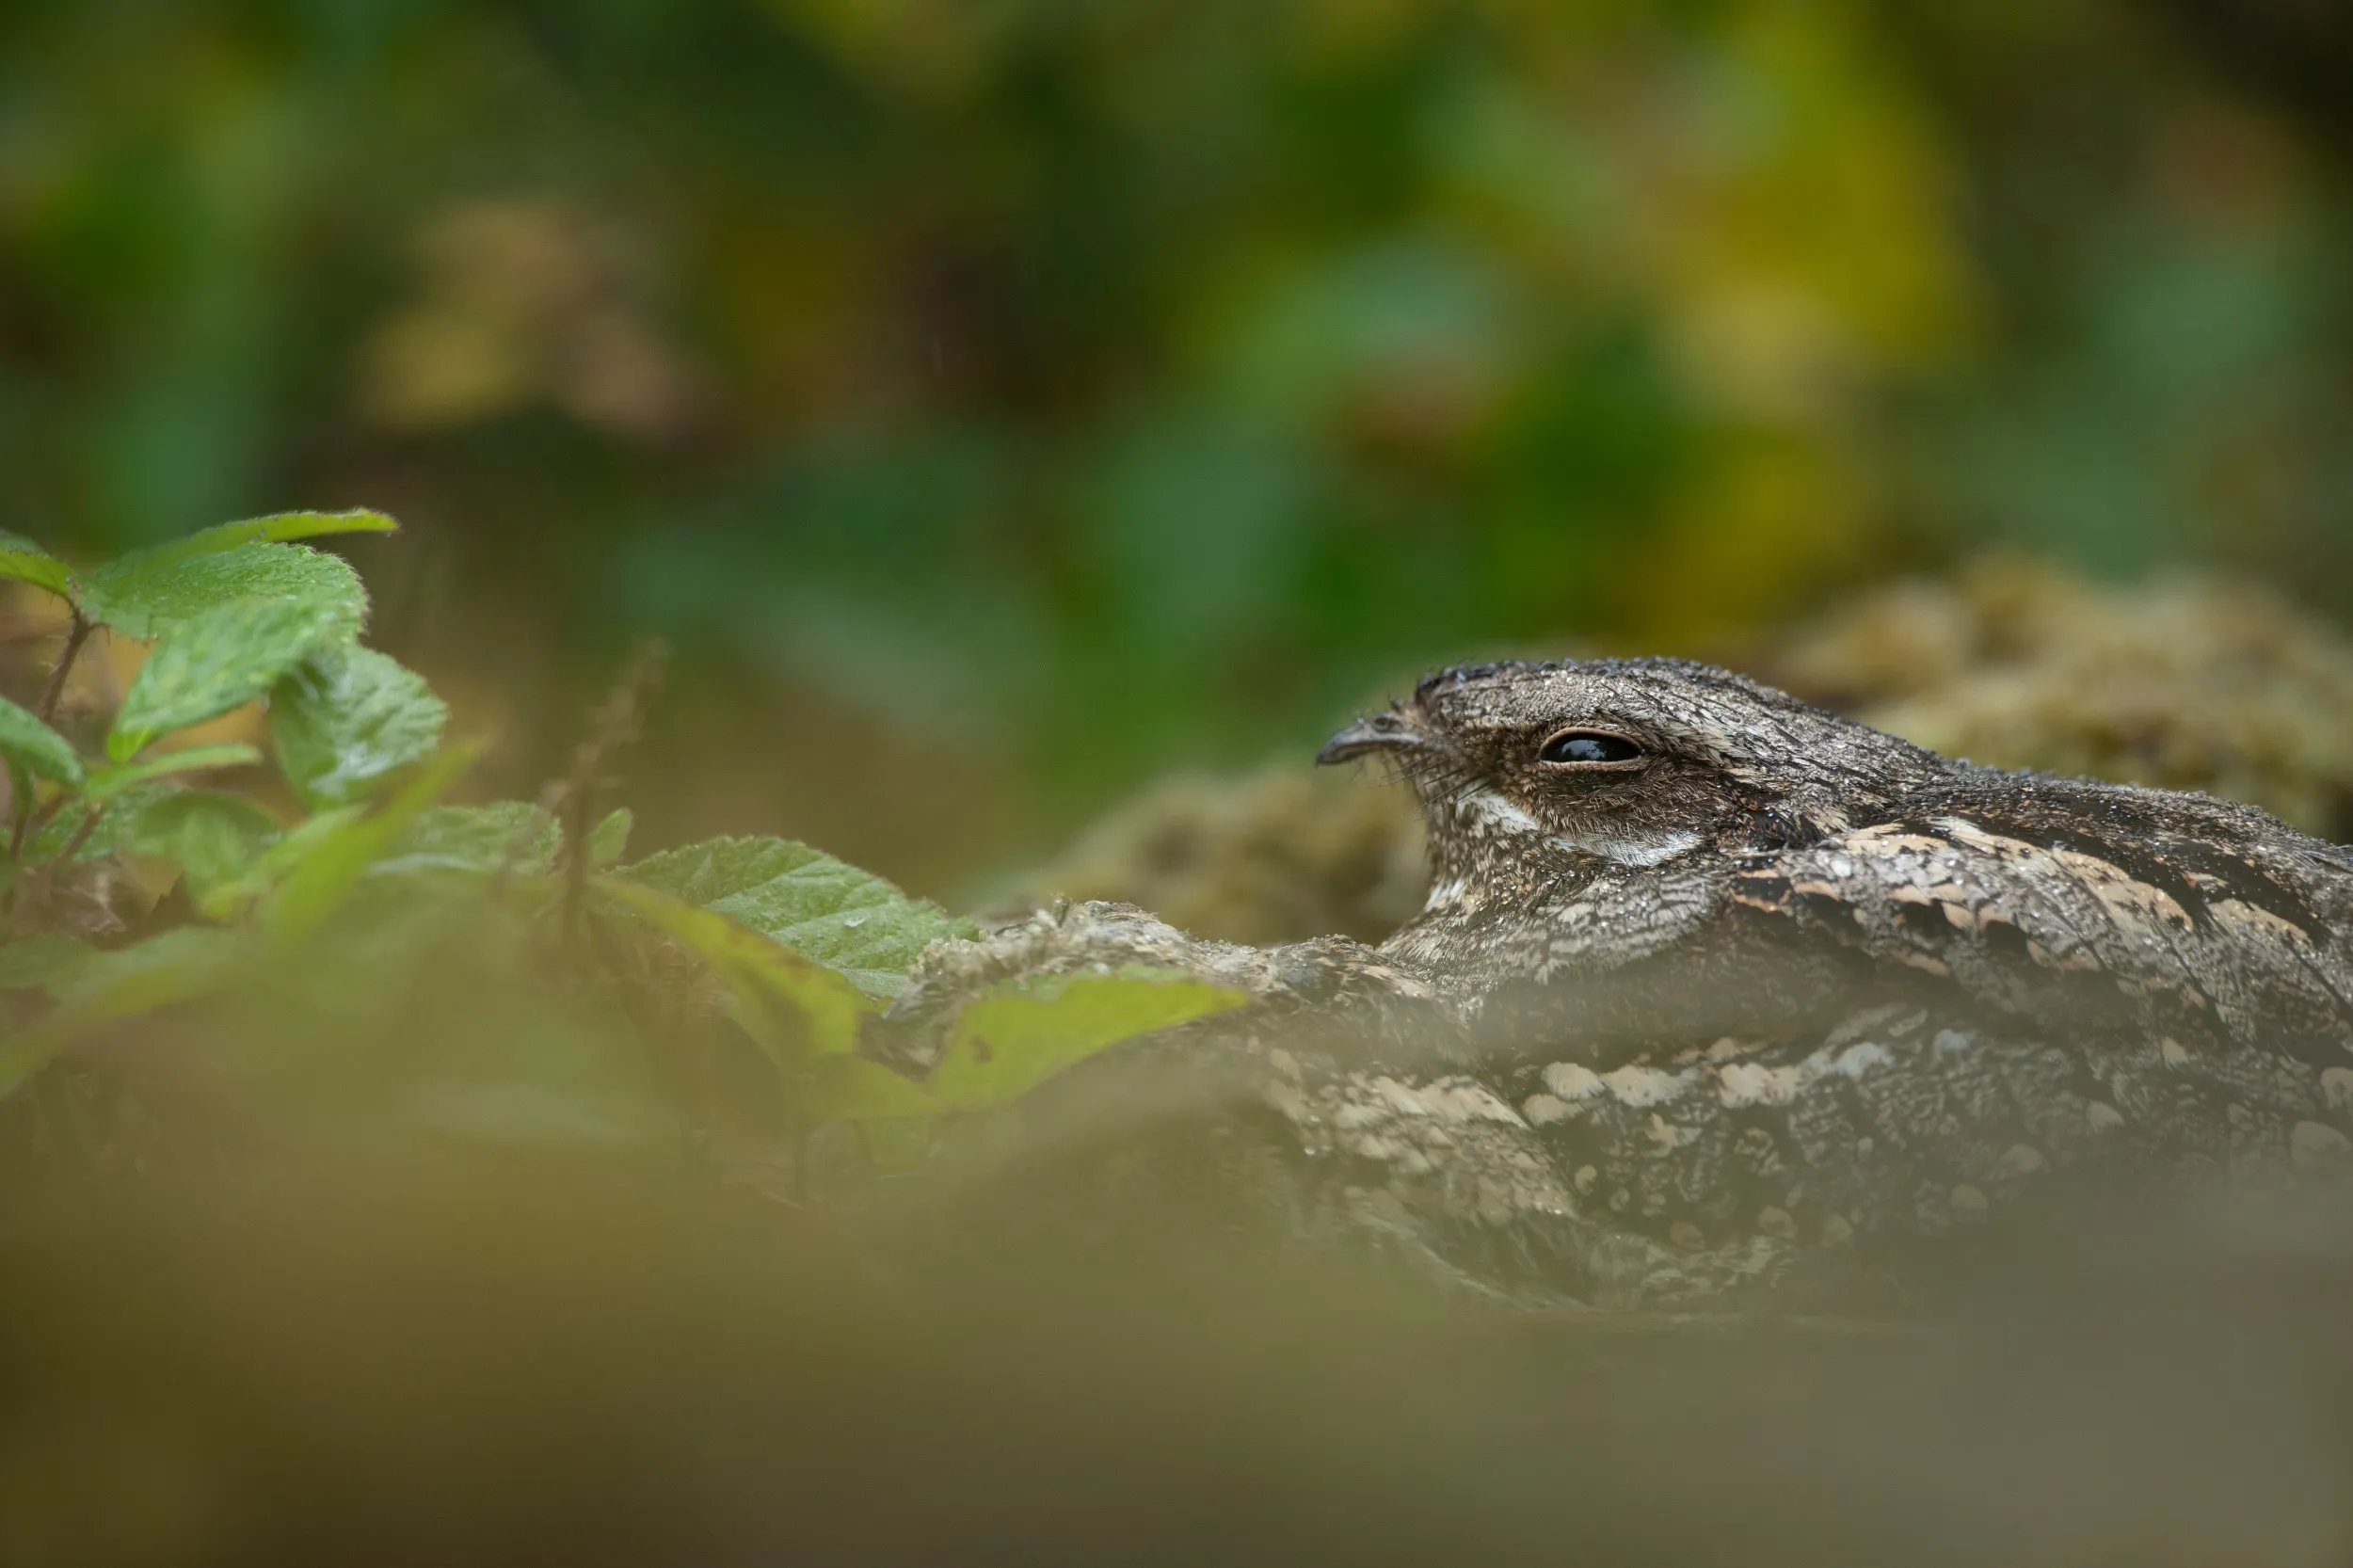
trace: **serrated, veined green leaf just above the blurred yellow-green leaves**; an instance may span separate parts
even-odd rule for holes
[[[939,904],[788,838],[713,838],[640,859],[621,876],[741,921],[868,996],[896,996],[932,942],[976,935]]]

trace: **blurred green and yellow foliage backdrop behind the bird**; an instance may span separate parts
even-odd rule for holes
[[[659,633],[642,848],[958,897],[1464,652],[2353,614],[2348,148],[2320,0],[14,0],[0,525],[381,506],[494,786]]]

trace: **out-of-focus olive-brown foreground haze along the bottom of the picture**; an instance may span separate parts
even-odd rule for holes
[[[372,1154],[9,1196],[0,1561],[2353,1552],[2341,1210],[2047,1236],[1934,1328],[1529,1318],[1181,1234],[878,1267],[744,1189]]]

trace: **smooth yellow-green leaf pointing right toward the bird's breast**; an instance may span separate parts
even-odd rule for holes
[[[1106,1045],[1249,1001],[1181,970],[1122,968],[995,986],[965,1003],[932,1071],[932,1095],[979,1111],[1021,1095]]]

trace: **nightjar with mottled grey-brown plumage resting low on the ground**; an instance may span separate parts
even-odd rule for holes
[[[2259,810],[1951,760],[1675,659],[1449,669],[1318,760],[1355,758],[1431,829],[1428,904],[1377,949],[1066,906],[934,949],[904,1038],[1007,975],[1238,984],[1061,1092],[1146,1074],[1228,1175],[1242,1144],[1285,1172],[1280,1224],[1598,1304],[1798,1290],[2087,1184],[2353,1165],[2353,852]]]

